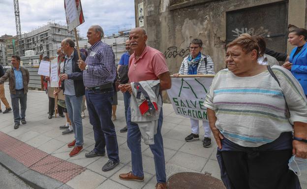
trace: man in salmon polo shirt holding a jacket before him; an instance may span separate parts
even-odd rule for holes
[[[129,58],[128,78],[130,82],[160,80],[160,91],[171,88],[171,78],[161,52],[146,45],[147,35],[143,28],[137,27],[129,34],[131,49],[134,53]],[[122,92],[132,92],[131,84],[119,86]],[[141,132],[136,123],[131,122],[130,105],[127,111],[127,144],[131,151],[132,171],[120,174],[120,179],[130,181],[144,181],[141,151]],[[157,184],[155,189],[166,189],[165,160],[161,127],[163,122],[162,108],[158,119],[157,133],[154,144],[149,145],[153,152]]]

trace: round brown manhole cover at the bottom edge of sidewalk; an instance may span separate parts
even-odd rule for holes
[[[183,172],[168,179],[168,189],[226,189],[224,184],[209,174]]]

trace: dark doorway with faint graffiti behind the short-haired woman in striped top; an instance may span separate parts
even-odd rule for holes
[[[261,35],[271,50],[286,53],[288,1],[226,12],[226,40],[234,40],[242,33]]]

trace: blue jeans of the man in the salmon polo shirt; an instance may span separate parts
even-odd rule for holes
[[[128,118],[127,143],[131,151],[132,173],[135,176],[143,177],[144,172],[143,172],[142,151],[141,151],[141,132],[139,126],[136,123],[131,122],[130,106],[128,108],[127,118]],[[163,112],[161,109],[158,120],[157,133],[154,135],[154,144],[149,145],[153,153],[155,174],[158,183],[166,182],[163,139],[161,135],[162,123],[163,123]]]

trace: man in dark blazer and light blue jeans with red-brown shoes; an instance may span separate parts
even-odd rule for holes
[[[83,84],[83,72],[78,67],[78,52],[72,39],[66,38],[61,42],[61,48],[65,55],[63,73],[60,80],[65,95],[66,109],[75,133],[75,140],[67,144],[74,147],[69,156],[76,156],[83,150],[83,126],[82,126],[82,98],[85,94]],[[84,54],[81,58],[85,60]]]

